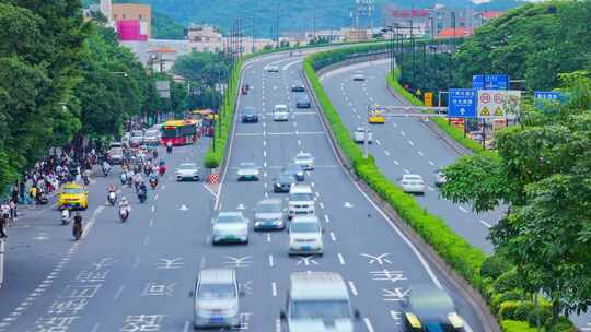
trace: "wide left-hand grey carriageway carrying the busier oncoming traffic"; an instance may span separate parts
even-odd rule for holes
[[[300,78],[301,60],[274,55],[246,64],[243,82],[253,90],[240,99],[239,108],[256,107],[260,121],[235,123],[219,188],[173,178],[175,165],[201,164],[207,146],[201,141],[175,147],[165,156],[169,173],[155,191],[150,190],[144,204],[123,189],[132,202],[125,224],[118,221],[117,209],[105,205],[105,188],[116,181],[114,174],[96,178],[91,186],[91,208],[84,213],[86,232],[80,242],[71,240],[69,227],[59,226],[59,212],[47,210],[37,216],[48,235],[43,248],[57,247],[33,262],[24,256],[9,259],[12,272],[2,294],[10,301],[0,306],[0,332],[189,331],[189,292],[199,270],[212,266],[236,270],[246,293],[241,299],[241,330],[245,331],[281,331],[279,310],[286,301],[289,274],[296,271],[340,273],[352,307],[361,311],[356,331],[399,331],[401,300],[412,285],[424,283],[448,290],[468,331],[484,331],[467,299],[418,253],[339,165],[317,110],[294,108],[290,85]],[[269,63],[279,66],[280,72],[265,72]],[[270,111],[276,104],[290,105],[289,121],[273,121]],[[415,133],[412,138],[415,140]],[[417,143],[422,141],[417,139]],[[426,146],[425,152],[434,149]],[[248,245],[213,247],[211,217],[219,211],[243,211],[252,218],[258,200],[286,197],[273,193],[271,179],[299,151],[315,157],[316,169],[306,175],[306,182],[314,189],[316,214],[326,229],[324,256],[289,258],[286,232],[251,230]],[[433,158],[443,164],[440,157]],[[260,181],[237,182],[235,170],[242,162],[260,166]],[[31,227],[38,225],[31,222]]]

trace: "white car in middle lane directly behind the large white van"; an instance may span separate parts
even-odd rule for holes
[[[317,216],[296,216],[289,224],[289,254],[323,254],[322,232]]]

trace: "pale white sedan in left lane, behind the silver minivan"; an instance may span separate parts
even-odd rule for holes
[[[248,244],[248,223],[242,212],[220,212],[211,220],[213,225],[211,242],[213,245],[223,242]]]

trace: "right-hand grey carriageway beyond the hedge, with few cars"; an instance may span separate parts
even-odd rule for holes
[[[362,62],[328,72],[321,79],[331,102],[351,133],[356,127],[367,123],[368,105],[405,105],[386,87],[389,69],[387,60],[371,64]],[[362,71],[366,81],[354,82],[354,71]],[[442,217],[473,246],[491,252],[493,246],[486,237],[488,229],[501,217],[500,212],[477,214],[470,205],[453,204],[439,197],[434,185],[437,169],[453,163],[459,157],[457,152],[416,118],[390,117],[384,124],[370,124],[369,129],[373,131],[374,140],[373,144],[369,144],[369,152],[382,171],[394,181],[404,174],[422,176],[427,190],[425,195],[416,197],[417,202]]]

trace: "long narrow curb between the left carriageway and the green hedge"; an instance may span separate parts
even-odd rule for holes
[[[336,68],[334,68],[336,69]],[[326,72],[326,71],[325,71]],[[324,73],[325,73],[324,72]],[[346,171],[355,179],[356,183],[362,189],[362,191],[371,198],[371,200],[396,224],[397,227],[404,233],[405,236],[417,247],[419,252],[441,273],[448,281],[450,281],[453,286],[460,290],[463,297],[470,303],[474,311],[478,316],[480,323],[486,332],[500,332],[500,327],[490,312],[486,300],[482,297],[479,292],[474,289],[460,274],[457,274],[439,254],[434,249],[432,249],[410,226],[408,226],[390,206],[390,204],[384,201],[373,189],[371,189],[364,181],[359,180],[357,175],[352,171],[351,163],[349,158],[340,151],[340,147],[336,143],[336,138],[333,133],[332,128],[328,126],[328,120],[326,119],[324,111],[321,110],[320,103],[314,91],[311,88],[310,81],[305,72],[301,73],[303,81],[305,82],[310,94],[312,95],[312,100],[318,109],[322,122],[324,123],[326,131],[328,132],[328,138],[333,150],[335,151],[339,162],[346,169]]]

